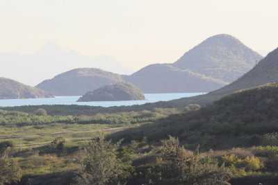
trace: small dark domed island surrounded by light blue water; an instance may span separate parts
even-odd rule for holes
[[[119,82],[114,85],[105,85],[88,91],[78,102],[89,101],[122,101],[122,100],[145,100],[142,91],[130,83]]]

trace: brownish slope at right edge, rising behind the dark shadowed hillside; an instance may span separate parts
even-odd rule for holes
[[[278,48],[274,51],[268,53],[268,55],[263,58],[253,69],[245,73],[235,82],[211,91],[208,94],[202,96],[194,96],[190,98],[180,98],[177,100],[171,100],[169,102],[163,103],[153,103],[149,107],[185,107],[188,104],[197,103],[199,105],[206,105],[213,103],[215,100],[232,94],[240,89],[247,89],[251,87],[256,87],[259,85],[264,85],[270,82],[278,82]],[[145,108],[145,107],[144,107]]]

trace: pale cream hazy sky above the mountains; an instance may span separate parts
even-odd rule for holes
[[[278,46],[277,7],[277,0],[0,0],[0,53],[34,53],[57,40],[139,69],[174,62],[219,33],[271,51]]]

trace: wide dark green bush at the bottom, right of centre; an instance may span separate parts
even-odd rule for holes
[[[199,160],[199,148],[194,153],[179,146],[179,140],[170,136],[149,171],[149,184],[229,184],[229,169]]]

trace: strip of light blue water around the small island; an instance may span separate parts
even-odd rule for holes
[[[30,98],[30,99],[10,99],[0,100],[0,107],[13,107],[22,105],[90,105],[101,107],[112,107],[122,105],[141,105],[144,103],[154,103],[157,101],[174,100],[178,98],[197,96],[205,93],[171,93],[171,94],[145,94],[146,100],[131,101],[92,101],[76,102],[81,96],[57,96],[56,98]]]

